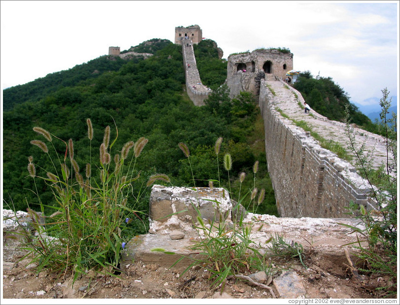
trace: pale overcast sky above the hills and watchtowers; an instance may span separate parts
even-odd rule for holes
[[[9,1],[1,8],[2,88],[67,70],[175,27],[199,25],[224,58],[285,47],[294,68],[332,77],[350,100],[398,95],[399,1]]]

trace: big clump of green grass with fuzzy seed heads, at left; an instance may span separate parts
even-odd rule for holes
[[[44,226],[39,227],[38,222],[33,221],[39,236],[27,236],[27,249],[34,254],[37,272],[42,269],[64,272],[71,270],[74,272],[74,280],[79,274],[92,268],[103,269],[101,272],[107,274],[117,271],[121,250],[130,238],[126,231],[129,231],[132,222],[138,220],[143,223],[140,216],[142,211],[136,210],[134,205],[129,206],[128,198],[133,196],[133,184],[140,176],[140,171],[135,169],[136,159],[148,139],[140,137],[136,142],[129,141],[120,151],[116,151],[114,144],[118,138],[118,129],[116,128],[116,136],[111,142],[110,127],[107,126],[99,156],[96,158],[98,161],[95,162],[91,153],[94,129],[90,119],[87,119],[87,126],[91,162],[84,166],[83,173],[77,162],[78,156],[74,153],[72,139],[66,142],[40,127],[34,127],[33,130],[43,136],[53,148],[54,139],[57,139],[65,144],[65,149],[58,154],[54,148],[57,156],[54,158],[46,143],[32,140],[31,143],[47,155],[51,169],[33,163],[32,156],[28,158],[29,175],[34,182],[45,181],[58,205],[46,205],[41,200],[37,187],[33,190],[42,214],[44,215],[45,207],[54,212],[45,216]],[[115,155],[112,158],[113,152]],[[165,175],[151,177],[151,181],[155,179],[169,181]],[[134,196],[136,203],[141,194],[139,192]],[[35,212],[31,209],[28,211],[35,219]]]

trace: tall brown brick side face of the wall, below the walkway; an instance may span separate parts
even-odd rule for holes
[[[264,118],[268,172],[279,215],[350,217],[346,215],[350,201],[372,208],[373,202],[366,195],[369,189],[356,169],[282,117],[275,110],[278,102],[267,82],[261,80],[259,105]]]

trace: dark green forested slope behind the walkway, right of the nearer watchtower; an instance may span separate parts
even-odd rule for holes
[[[349,95],[331,77],[314,77],[310,71],[305,71],[300,73],[293,87],[301,93],[305,102],[328,119],[343,122],[345,105],[348,105],[352,123],[369,132],[378,133],[377,124],[372,123],[350,102]]]

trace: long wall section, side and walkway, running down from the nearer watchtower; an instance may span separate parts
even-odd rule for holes
[[[355,167],[322,148],[291,119],[307,122],[320,136],[346,147],[344,124],[312,110],[311,114],[305,114],[299,102],[304,102],[301,94],[281,80],[261,81],[259,105],[265,125],[268,171],[279,215],[349,217],[346,207],[350,201],[373,208],[374,203],[366,195],[370,190],[367,181],[356,173]],[[355,132],[359,145],[369,136],[367,151],[375,147],[374,163],[380,164],[384,139],[358,129]]]

